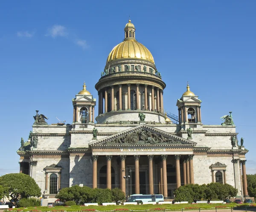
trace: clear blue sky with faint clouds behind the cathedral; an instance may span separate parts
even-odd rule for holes
[[[0,175],[19,171],[16,151],[35,110],[49,124],[55,116],[72,123],[71,100],[84,80],[98,98],[94,85],[129,15],[166,82],[166,110],[177,114],[189,81],[204,124],[233,111],[250,150],[247,173],[256,173],[255,9],[255,0],[1,1]]]

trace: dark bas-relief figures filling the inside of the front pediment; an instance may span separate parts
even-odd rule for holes
[[[182,144],[178,139],[167,138],[162,134],[141,129],[136,132],[106,141],[103,144]]]

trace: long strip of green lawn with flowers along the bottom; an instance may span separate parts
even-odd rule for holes
[[[249,206],[250,204],[241,204],[239,206]],[[238,206],[235,203],[231,204],[164,204],[164,205],[117,205],[117,206],[71,206],[71,207],[64,207],[64,206],[55,206],[53,208],[48,207],[29,207],[29,208],[15,208],[9,209],[12,211],[32,211],[32,212],[46,212],[46,211],[125,211],[125,210],[166,210],[166,211],[175,211],[175,210],[198,210],[200,209],[212,209],[215,207],[218,208],[225,208],[225,207],[236,207]],[[254,204],[254,206],[256,206]],[[123,209],[123,210],[122,210]]]

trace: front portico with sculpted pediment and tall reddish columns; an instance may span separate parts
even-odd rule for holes
[[[102,183],[106,181],[109,189],[119,187],[126,193],[128,189],[130,195],[160,193],[167,198],[170,196],[168,192],[187,184],[183,181],[184,174],[190,173],[190,182],[194,182],[195,144],[144,124],[94,141],[89,144],[93,161],[93,188],[104,186]],[[189,161],[186,173],[183,171],[184,160]],[[107,169],[105,180],[102,175],[99,177],[102,167]],[[114,170],[114,180],[111,169]],[[131,182],[125,181],[125,175],[131,175]],[[130,188],[127,188],[127,183]]]

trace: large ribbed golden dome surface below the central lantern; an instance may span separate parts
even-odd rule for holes
[[[111,53],[108,55],[108,62],[116,59],[145,59],[149,62],[154,63],[153,56],[151,52],[141,43],[137,42],[135,39],[125,40],[118,45],[116,45]]]

